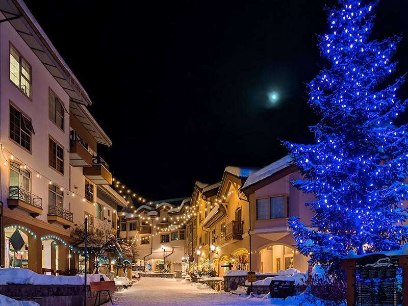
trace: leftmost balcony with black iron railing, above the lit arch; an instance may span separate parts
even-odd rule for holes
[[[21,187],[10,187],[7,203],[10,209],[18,208],[34,218],[42,214],[42,198]]]

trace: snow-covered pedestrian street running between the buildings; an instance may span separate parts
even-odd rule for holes
[[[298,298],[298,297],[297,297]],[[217,292],[200,283],[176,281],[174,278],[141,277],[131,288],[116,292],[114,306],[236,306],[276,305],[297,306],[297,298],[270,299]]]

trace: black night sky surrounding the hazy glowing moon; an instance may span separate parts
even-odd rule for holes
[[[336,1],[25,3],[113,142],[98,154],[147,200],[191,196],[226,166],[266,166],[287,154],[279,139],[313,142],[305,84],[326,65],[316,35]],[[371,38],[402,35],[394,75],[406,73],[408,2],[376,13]]]

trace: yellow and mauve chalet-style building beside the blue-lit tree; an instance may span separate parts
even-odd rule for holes
[[[314,197],[297,190],[302,179],[289,156],[261,168],[226,167],[222,181],[196,182],[185,251],[189,268],[213,269],[219,276],[233,269],[277,272],[308,269],[308,259],[294,246],[287,218],[310,225],[313,212],[304,203]]]

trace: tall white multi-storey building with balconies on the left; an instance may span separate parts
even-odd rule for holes
[[[1,1],[3,266],[38,273],[68,269],[69,228],[98,216],[98,186],[111,184],[112,176],[97,145],[110,146],[111,140],[89,105],[85,89],[24,3]]]

